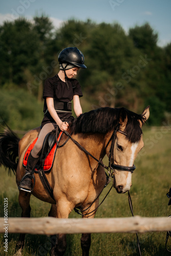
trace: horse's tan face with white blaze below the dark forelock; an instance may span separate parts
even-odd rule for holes
[[[117,133],[114,146],[114,163],[124,166],[133,166],[134,160],[143,147],[142,138],[131,143],[123,134]],[[132,186],[132,173],[123,170],[114,170],[114,187],[118,193],[125,193]]]

